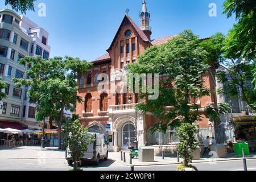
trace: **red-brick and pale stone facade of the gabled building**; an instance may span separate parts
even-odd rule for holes
[[[125,36],[127,30],[131,31],[130,36]],[[146,31],[148,34],[148,31]],[[124,102],[125,94],[110,94],[108,93],[108,111],[101,111],[101,93],[98,92],[97,87],[98,84],[94,81],[97,73],[107,73],[109,76],[109,81],[111,74],[115,74],[116,72],[123,71],[123,66],[127,63],[133,63],[133,61],[138,60],[138,56],[141,55],[146,48],[156,44],[166,43],[168,40],[173,38],[174,36],[165,37],[163,39],[158,39],[151,41],[147,37],[148,35],[144,34],[144,32],[131,20],[128,15],[125,15],[121,26],[118,29],[117,34],[110,46],[107,50],[108,54],[98,58],[93,61],[93,68],[90,69],[86,75],[84,75],[84,83],[79,83],[79,91],[78,95],[84,100],[82,103],[77,103],[77,114],[81,117],[81,123],[85,127],[90,126],[98,126],[101,127],[103,131],[106,131],[106,124],[111,125],[110,131],[108,134],[114,135],[114,142],[110,143],[110,148],[113,151],[118,151],[122,148],[123,138],[122,135],[125,135],[125,132],[122,133],[123,126],[127,122],[131,122],[134,124],[135,121],[135,112],[133,109],[127,105],[123,106],[122,104],[127,104]],[[133,50],[133,44],[135,44],[135,50]],[[127,46],[129,45],[130,52],[126,53]],[[123,47],[123,53],[122,53]],[[214,69],[213,69],[214,70]],[[210,96],[205,96],[201,98],[201,107],[207,106],[209,103],[216,104],[216,96],[213,92],[215,89],[215,81],[214,81],[214,72],[210,72],[205,74],[204,76],[204,85],[208,86],[211,90]],[[88,75],[91,76],[92,83],[87,84]],[[110,89],[110,86],[109,86]],[[86,106],[86,94],[91,94],[92,98],[92,111],[85,112]],[[118,102],[119,101],[119,102]],[[133,95],[133,104],[135,103],[135,97]],[[118,110],[115,105],[119,104],[120,108],[123,110]],[[118,107],[118,108],[119,108]],[[115,108],[115,109],[114,109]],[[205,118],[204,113],[201,114],[202,121],[198,122],[199,127],[209,127],[209,119]],[[137,113],[137,134],[138,134],[138,142],[139,146],[146,143],[147,131],[152,127],[158,119],[154,118],[150,113],[142,114]]]

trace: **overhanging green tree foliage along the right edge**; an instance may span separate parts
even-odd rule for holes
[[[229,31],[222,48],[225,60],[221,64],[225,65],[226,71],[219,71],[217,77],[226,84],[221,93],[241,98],[255,111],[255,82],[252,81],[256,67],[256,1],[226,0],[223,6],[223,13],[228,18],[236,15],[237,22]]]

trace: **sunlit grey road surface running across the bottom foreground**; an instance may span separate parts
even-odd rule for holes
[[[243,161],[228,160],[224,162],[193,163],[199,171],[242,171]],[[175,171],[177,164],[164,166],[138,166],[135,171]],[[40,147],[0,147],[0,171],[68,171],[72,169],[65,160],[65,152],[56,148],[42,150]],[[256,159],[247,159],[248,171],[256,171]],[[99,166],[86,164],[84,171],[130,171],[129,166],[117,160],[102,160]]]

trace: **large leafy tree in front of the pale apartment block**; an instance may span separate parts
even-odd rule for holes
[[[66,56],[44,60],[42,57],[25,57],[20,64],[27,64],[28,79],[13,78],[17,86],[29,86],[30,103],[36,104],[36,121],[52,117],[58,126],[59,149],[61,149],[61,125],[64,121],[64,109],[74,109],[77,96],[77,78],[92,66],[79,58]]]

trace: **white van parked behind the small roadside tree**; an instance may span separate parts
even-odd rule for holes
[[[80,160],[94,162],[97,165],[100,162],[100,159],[108,160],[108,141],[106,140],[105,135],[98,133],[88,133],[88,135],[94,135],[95,140],[88,145],[88,150],[84,152],[84,156]],[[69,165],[73,163],[69,148],[66,150],[66,160]]]

